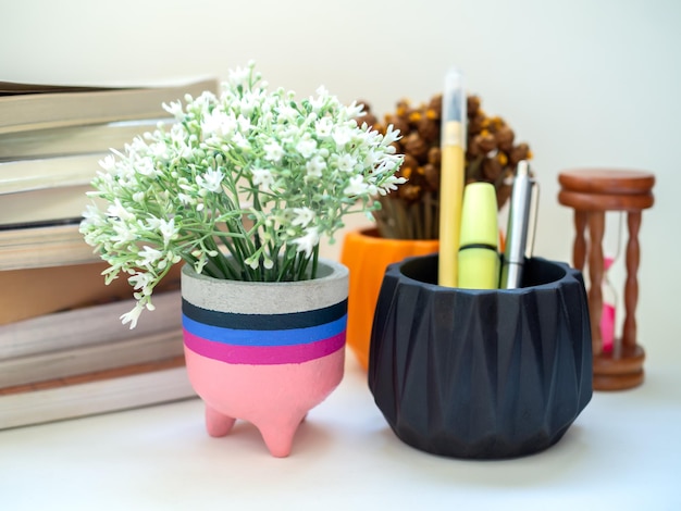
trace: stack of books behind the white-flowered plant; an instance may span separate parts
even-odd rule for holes
[[[163,103],[215,79],[96,88],[0,82],[0,429],[195,396],[184,369],[179,265],[134,329],[134,301],[78,232],[110,149],[172,123]]]

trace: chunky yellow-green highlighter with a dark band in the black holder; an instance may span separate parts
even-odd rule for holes
[[[490,183],[471,183],[463,191],[459,286],[467,289],[496,289],[500,258],[496,190]]]

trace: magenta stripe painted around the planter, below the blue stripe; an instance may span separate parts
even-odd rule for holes
[[[184,331],[191,351],[231,364],[273,365],[307,362],[331,354],[345,346],[345,331],[315,342],[293,346],[235,346],[198,337]]]

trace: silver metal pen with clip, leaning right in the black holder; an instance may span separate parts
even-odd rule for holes
[[[499,288],[516,289],[522,286],[522,269],[525,257],[532,256],[534,246],[534,225],[536,224],[536,197],[533,194],[536,183],[530,176],[530,165],[525,160],[518,163],[508,211],[506,229],[506,249],[502,264]],[[535,197],[534,221],[530,223],[530,211]],[[528,242],[528,237],[531,241]]]

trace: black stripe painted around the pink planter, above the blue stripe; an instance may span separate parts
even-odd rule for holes
[[[284,314],[239,314],[236,312],[211,311],[182,300],[182,312],[186,317],[198,323],[223,328],[246,331],[283,331],[307,328],[331,323],[347,314],[347,299],[330,307],[312,311]]]

